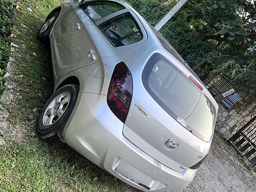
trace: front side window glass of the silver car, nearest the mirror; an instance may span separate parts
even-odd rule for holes
[[[94,21],[97,21],[104,16],[107,16],[109,14],[112,14],[123,9],[124,7],[122,7],[119,4],[113,2],[99,1],[93,2],[92,4],[88,5],[86,7],[86,12]]]

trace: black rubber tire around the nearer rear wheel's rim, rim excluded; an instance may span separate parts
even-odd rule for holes
[[[44,118],[44,112],[46,111],[47,107],[50,105],[50,103],[52,102],[52,100],[54,100],[54,98],[56,98],[56,96],[58,96],[58,94],[62,93],[62,92],[68,92],[70,94],[70,101],[68,103],[68,106],[65,110],[65,112],[62,114],[62,116],[58,119],[57,122],[55,122],[54,124],[50,125],[50,126],[44,126],[43,124],[43,118]],[[66,125],[66,122],[68,120],[68,118],[70,117],[74,106],[76,104],[76,100],[78,98],[78,92],[79,92],[79,87],[75,84],[69,84],[66,86],[63,86],[62,88],[60,88],[59,90],[57,90],[51,97],[50,99],[46,102],[44,108],[42,109],[39,118],[38,118],[38,122],[37,122],[37,126],[36,126],[36,131],[38,132],[38,134],[42,137],[47,137],[47,135],[49,134],[58,134],[58,132],[64,128],[64,126]]]

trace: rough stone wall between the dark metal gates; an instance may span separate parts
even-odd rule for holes
[[[255,102],[251,96],[240,100],[230,109],[221,104],[217,114],[215,130],[223,138],[229,139],[254,116],[256,116]]]

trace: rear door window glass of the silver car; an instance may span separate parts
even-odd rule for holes
[[[104,22],[99,27],[114,46],[123,46],[142,40],[142,32],[129,13]]]

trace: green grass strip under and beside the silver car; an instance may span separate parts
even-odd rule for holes
[[[49,47],[40,44],[36,34],[46,15],[62,1],[19,2],[12,20],[12,32],[17,37],[7,38],[19,46],[14,53],[13,76],[10,78],[16,83],[14,91],[19,95],[11,105],[0,103],[10,112],[9,122],[16,128],[16,133],[11,137],[4,136],[7,144],[0,148],[0,192],[134,190],[66,144],[47,144],[37,136],[36,120],[53,93],[54,83]],[[93,182],[96,177],[98,180]]]

